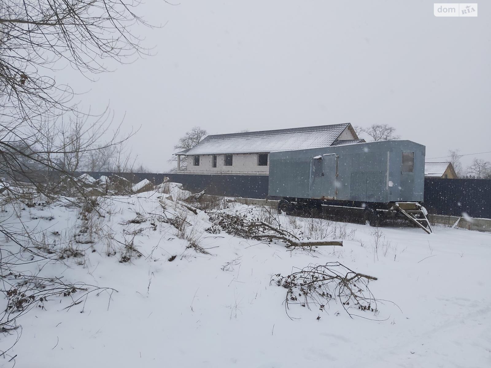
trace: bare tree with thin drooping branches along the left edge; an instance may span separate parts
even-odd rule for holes
[[[136,24],[148,26],[136,14],[139,4],[139,0],[0,2],[0,184],[7,186],[2,178],[16,184],[8,189],[5,201],[34,206],[33,196],[58,200],[54,189],[58,184],[46,183],[52,176],[63,175],[80,188],[78,195],[82,200],[71,201],[72,205],[82,206],[81,211],[85,207],[81,203],[95,208],[97,201],[84,192],[73,170],[86,165],[93,152],[120,146],[132,133],[121,137],[118,126],[109,130],[113,119],[109,109],[84,112],[82,106],[72,102],[76,93],[73,86],[59,84],[54,75],[70,65],[86,78],[94,79],[112,64],[131,62],[142,53],[148,54],[132,33]],[[21,181],[30,181],[35,188],[25,187]],[[43,199],[42,203],[48,200]],[[30,299],[29,292],[19,289],[18,285],[45,288],[38,274],[23,274],[23,265],[26,260],[43,261],[41,270],[56,255],[47,252],[50,243],[46,234],[37,234],[36,238],[22,224],[15,231],[12,229],[9,217],[4,216],[0,234],[10,244],[0,246],[0,272],[12,275],[13,281],[9,284],[4,279],[1,291],[5,300],[15,302],[19,313],[12,315],[7,307],[0,315],[3,332],[17,328],[16,318],[27,313],[34,306],[32,303],[42,303],[47,296],[60,294],[59,290],[65,294],[75,291],[72,285],[58,288],[59,283],[52,282],[59,281],[57,277],[48,280],[51,288],[58,290],[56,293]]]

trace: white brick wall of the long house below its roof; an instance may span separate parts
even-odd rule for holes
[[[268,166],[258,165],[258,154],[234,154],[232,166],[224,166],[225,155],[217,155],[217,167],[212,167],[213,155],[199,155],[199,166],[194,166],[194,156],[187,156],[188,168],[186,173],[192,174],[248,174],[268,175],[270,172],[269,155]],[[184,159],[184,158],[182,158]]]

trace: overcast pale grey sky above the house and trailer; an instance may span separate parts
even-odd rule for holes
[[[138,29],[156,55],[84,82],[81,99],[141,125],[134,152],[156,172],[193,126],[386,123],[427,158],[491,151],[490,1],[477,18],[437,18],[427,0],[147,1],[144,18],[166,23]]]

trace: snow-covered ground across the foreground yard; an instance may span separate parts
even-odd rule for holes
[[[210,226],[208,215],[188,212],[185,237],[208,255],[187,248],[189,241],[178,238],[174,226],[158,221],[163,213],[160,195],[105,200],[103,207],[110,214],[94,216],[91,226],[122,242],[144,228],[134,238],[143,256],[121,263],[124,252],[107,239],[83,234],[96,241],[72,244],[84,250],[83,257],[49,263],[42,275],[61,275],[66,282],[117,292],[111,297],[107,291],[89,294],[70,309],[65,309],[70,297],[45,302],[45,310],[34,308],[17,321],[22,331],[1,337],[1,350],[6,350],[21,334],[0,365],[491,367],[491,234],[443,226],[435,226],[433,235],[391,227],[377,234],[368,225],[275,214],[297,234],[344,240],[343,247],[319,247],[310,253],[289,251],[279,241],[204,232]],[[14,214],[11,207],[5,210]],[[269,215],[238,204],[229,204],[228,210]],[[30,229],[49,229],[51,239],[73,238],[82,222],[79,209],[64,206],[16,212]],[[146,221],[126,223],[137,212]],[[174,212],[167,208],[168,216]],[[379,314],[364,312],[360,315],[365,318],[352,319],[333,300],[325,312],[291,306],[290,319],[286,289],[270,285],[272,275],[331,261],[378,277],[370,290],[397,306],[380,302]]]

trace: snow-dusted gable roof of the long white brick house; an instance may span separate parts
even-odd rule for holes
[[[186,155],[269,153],[329,147],[351,124],[208,135]]]

